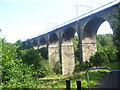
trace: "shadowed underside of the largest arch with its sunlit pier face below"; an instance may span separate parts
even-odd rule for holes
[[[107,20],[101,17],[93,17],[86,24],[82,38],[83,61],[89,61],[90,57],[97,51],[96,36],[103,22],[107,22]],[[104,30],[106,30],[105,26]]]

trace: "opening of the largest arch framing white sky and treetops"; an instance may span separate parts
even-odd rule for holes
[[[98,28],[96,44],[97,51],[101,51],[101,49],[104,49],[105,47],[114,47],[113,30],[107,21],[104,21]]]

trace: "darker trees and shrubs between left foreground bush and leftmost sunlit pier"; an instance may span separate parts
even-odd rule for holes
[[[20,40],[15,44],[19,47],[17,50],[19,58],[21,58],[24,63],[33,65],[34,77],[41,78],[51,73],[52,70],[48,64],[48,51],[46,47],[34,50],[31,45],[24,45]]]

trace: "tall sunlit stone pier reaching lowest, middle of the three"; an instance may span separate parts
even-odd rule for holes
[[[75,68],[73,40],[63,42],[62,51],[62,74],[72,74]]]

